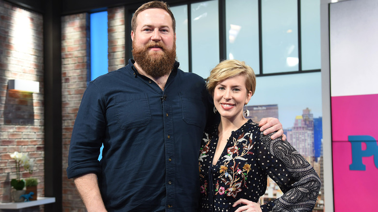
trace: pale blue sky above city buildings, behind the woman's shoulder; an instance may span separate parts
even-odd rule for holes
[[[311,109],[314,118],[321,117],[321,73],[256,77],[256,91],[247,106],[253,105],[278,105],[284,129],[294,126],[295,117],[305,108]]]

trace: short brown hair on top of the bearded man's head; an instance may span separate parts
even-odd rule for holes
[[[176,33],[176,21],[174,20],[173,13],[171,9],[169,8],[169,5],[164,1],[157,1],[157,0],[144,3],[135,11],[134,16],[131,19],[131,30],[135,32],[135,30],[137,29],[137,17],[142,11],[147,10],[147,9],[154,9],[154,8],[163,9],[169,15],[171,15],[173,32]]]

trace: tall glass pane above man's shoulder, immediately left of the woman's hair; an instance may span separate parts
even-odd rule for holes
[[[190,5],[192,72],[204,78],[219,63],[218,0]]]

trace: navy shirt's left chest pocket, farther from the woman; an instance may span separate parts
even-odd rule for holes
[[[123,130],[146,126],[151,121],[151,110],[146,93],[114,97],[117,123]]]

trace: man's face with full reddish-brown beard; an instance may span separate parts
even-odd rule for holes
[[[133,56],[147,74],[159,77],[169,74],[176,57],[175,34],[171,16],[162,9],[147,9],[137,17],[131,31]]]

